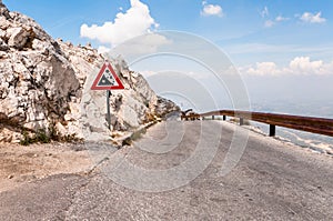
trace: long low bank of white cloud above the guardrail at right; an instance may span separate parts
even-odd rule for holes
[[[279,68],[274,62],[258,62],[254,67],[242,67],[239,70],[254,76],[333,74],[333,61],[324,63],[322,60],[311,61],[310,57],[296,57],[284,68]]]

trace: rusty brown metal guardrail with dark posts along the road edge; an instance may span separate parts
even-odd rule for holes
[[[301,130],[323,135],[333,137],[333,119],[325,118],[313,118],[313,117],[301,117],[301,115],[289,115],[278,113],[262,113],[262,112],[250,112],[250,111],[235,111],[235,110],[220,110],[200,114],[183,115],[184,120],[195,120],[204,117],[223,115],[223,120],[226,117],[234,117],[240,119],[240,124],[244,124],[244,119],[251,121],[258,121],[270,125],[270,137],[275,135],[275,128],[283,127],[294,130]]]

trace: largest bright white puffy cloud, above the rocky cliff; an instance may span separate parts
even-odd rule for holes
[[[149,33],[151,28],[158,28],[158,23],[150,16],[147,4],[140,0],[131,0],[131,8],[124,13],[119,12],[114,21],[107,21],[102,26],[81,26],[81,37],[98,40],[112,46],[122,43],[137,36]]]

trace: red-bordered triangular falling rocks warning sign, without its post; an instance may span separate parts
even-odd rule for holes
[[[92,83],[91,90],[119,90],[124,89],[110,63],[104,63]]]

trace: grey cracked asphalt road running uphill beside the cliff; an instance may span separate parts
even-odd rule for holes
[[[88,145],[92,173],[0,193],[0,220],[333,219],[332,157],[250,132],[236,167],[222,175],[234,128],[160,123],[120,151]]]

